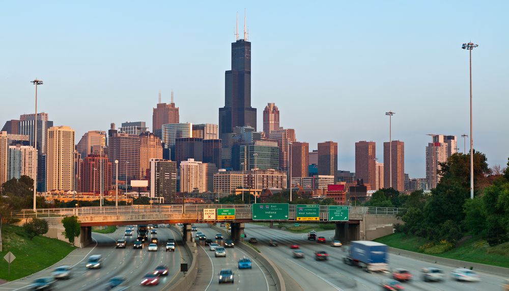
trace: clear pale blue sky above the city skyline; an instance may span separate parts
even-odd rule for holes
[[[298,141],[338,143],[355,171],[355,142],[405,142],[405,172],[425,177],[427,134],[469,134],[490,166],[509,156],[507,1],[44,1],[0,9],[0,123],[38,111],[88,130],[146,121],[173,90],[180,121],[218,123],[236,12],[252,42],[251,105],[268,102]],[[468,140],[467,140],[468,147]]]

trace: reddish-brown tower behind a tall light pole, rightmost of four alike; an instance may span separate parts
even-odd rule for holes
[[[390,188],[392,184],[393,189],[405,191],[405,143],[401,141],[392,141],[391,143],[392,161],[389,159],[389,142],[383,143],[383,187]],[[390,166],[389,163],[391,163]]]

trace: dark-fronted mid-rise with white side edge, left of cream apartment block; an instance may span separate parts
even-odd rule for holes
[[[149,163],[150,197],[163,197],[165,203],[175,203],[177,163],[158,158],[151,158]]]

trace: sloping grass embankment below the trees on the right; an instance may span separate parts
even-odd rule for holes
[[[407,251],[509,268],[509,243],[490,247],[486,241],[479,237],[472,237],[457,248],[442,253],[435,253],[439,250],[440,246],[428,248],[426,249],[427,251],[421,251],[419,247],[429,243],[427,240],[418,236],[407,236],[399,232],[380,237],[375,241],[386,244],[389,247]]]

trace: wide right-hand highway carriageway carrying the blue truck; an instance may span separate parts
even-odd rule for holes
[[[303,290],[375,290],[381,289],[380,282],[390,278],[390,274],[366,273],[358,267],[348,266],[343,263],[347,248],[334,248],[330,241],[334,231],[318,232],[319,236],[325,236],[327,242],[320,244],[308,241],[305,233],[291,233],[268,227],[246,224],[245,233],[247,238],[256,237],[259,243],[256,245],[264,254],[286,271]],[[268,246],[269,240],[275,240],[279,246]],[[304,252],[304,258],[293,258],[290,244],[297,243]],[[329,253],[329,260],[316,261],[314,252],[324,250]],[[414,280],[402,283],[406,290],[501,290],[504,278],[480,273],[480,282],[457,282],[450,279],[450,272],[454,269],[438,264],[431,264],[412,258],[389,255],[391,269],[405,268],[414,275]],[[423,282],[418,276],[422,267],[434,266],[441,268],[447,279],[443,282]]]

